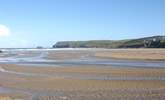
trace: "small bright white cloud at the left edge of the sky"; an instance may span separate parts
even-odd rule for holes
[[[0,24],[0,37],[8,36],[10,36],[10,29],[5,25]]]

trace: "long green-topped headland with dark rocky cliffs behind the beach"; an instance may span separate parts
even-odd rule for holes
[[[60,41],[53,48],[165,48],[165,36],[129,40]]]

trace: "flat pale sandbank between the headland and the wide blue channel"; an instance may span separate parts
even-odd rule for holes
[[[138,60],[165,60],[165,49],[83,49],[61,50],[50,52],[48,59],[66,60],[83,57],[138,59]]]

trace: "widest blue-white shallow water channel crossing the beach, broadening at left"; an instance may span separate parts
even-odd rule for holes
[[[0,58],[1,64],[34,64],[34,65],[103,65],[116,67],[140,67],[140,68],[165,68],[165,61],[144,61],[144,60],[121,60],[121,59],[98,59],[93,57],[80,57],[79,59],[70,60],[49,60],[47,59],[48,51],[15,51],[10,53],[10,57]],[[31,56],[28,56],[28,55]],[[13,56],[12,56],[13,55]],[[21,56],[20,56],[21,55]],[[24,56],[22,56],[24,55]]]

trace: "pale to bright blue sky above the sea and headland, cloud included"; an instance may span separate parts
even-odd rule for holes
[[[165,35],[165,0],[0,0],[0,48]]]

